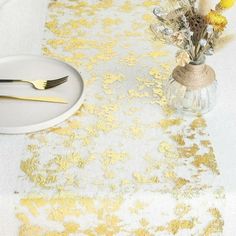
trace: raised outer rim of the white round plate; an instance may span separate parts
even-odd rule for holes
[[[11,55],[11,56],[6,56],[6,57],[0,57],[0,63],[4,60],[14,59],[14,58],[15,59],[38,58],[38,59],[47,59],[47,60],[55,61],[57,63],[63,63],[79,75],[81,82],[82,82],[82,92],[81,92],[81,96],[78,98],[76,103],[71,108],[69,108],[64,113],[62,113],[61,115],[59,115],[55,118],[49,119],[47,121],[43,121],[43,122],[33,124],[33,125],[24,125],[24,126],[18,126],[18,127],[0,126],[0,134],[18,135],[18,134],[35,133],[35,132],[39,132],[42,130],[46,130],[46,129],[52,128],[52,127],[64,122],[65,120],[70,118],[72,115],[74,115],[74,113],[76,111],[79,110],[79,108],[81,107],[81,105],[83,104],[83,102],[85,100],[85,82],[84,82],[84,79],[81,75],[81,72],[79,72],[75,67],[68,64],[67,62],[58,60],[56,58],[51,58],[51,57],[44,56],[44,55],[32,55],[32,54],[20,54],[20,55]],[[82,74],[83,74],[83,72],[82,72]]]

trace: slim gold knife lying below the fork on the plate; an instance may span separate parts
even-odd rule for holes
[[[16,99],[23,101],[35,101],[35,102],[52,102],[52,103],[62,103],[66,104],[67,102],[58,97],[21,97],[21,96],[9,96],[9,95],[0,95],[0,99]]]

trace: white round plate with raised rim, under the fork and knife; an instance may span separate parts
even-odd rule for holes
[[[0,83],[0,95],[60,97],[67,104],[18,101],[0,98],[0,133],[22,134],[47,129],[66,120],[82,105],[84,81],[72,66],[44,56],[0,58],[0,79],[58,79],[68,81],[47,90],[36,90],[26,83]]]

